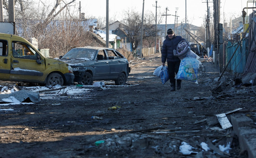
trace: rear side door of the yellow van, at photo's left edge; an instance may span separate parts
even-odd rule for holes
[[[8,38],[1,37],[0,39],[0,78],[10,77],[10,55],[8,51]]]

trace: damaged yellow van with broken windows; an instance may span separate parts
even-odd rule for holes
[[[68,64],[44,57],[26,39],[0,33],[0,80],[62,86],[73,84],[74,74]]]

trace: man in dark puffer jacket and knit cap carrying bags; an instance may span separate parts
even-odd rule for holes
[[[171,83],[171,91],[175,91],[175,73],[177,74],[181,60],[179,57],[173,55],[173,50],[177,49],[177,45],[180,41],[186,40],[181,36],[174,34],[172,29],[167,30],[166,39],[163,41],[162,46],[162,66],[165,66],[167,59],[169,79]],[[177,80],[177,90],[181,89],[181,80]]]

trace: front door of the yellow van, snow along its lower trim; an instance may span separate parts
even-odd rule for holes
[[[38,58],[43,61],[43,56],[33,50],[28,43],[13,41],[10,77],[21,81],[45,80],[45,64],[37,62]]]

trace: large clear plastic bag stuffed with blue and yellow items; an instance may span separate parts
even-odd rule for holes
[[[181,59],[179,71],[176,74],[175,79],[198,84],[197,74],[200,64],[202,63],[196,58],[184,57],[183,59]]]

